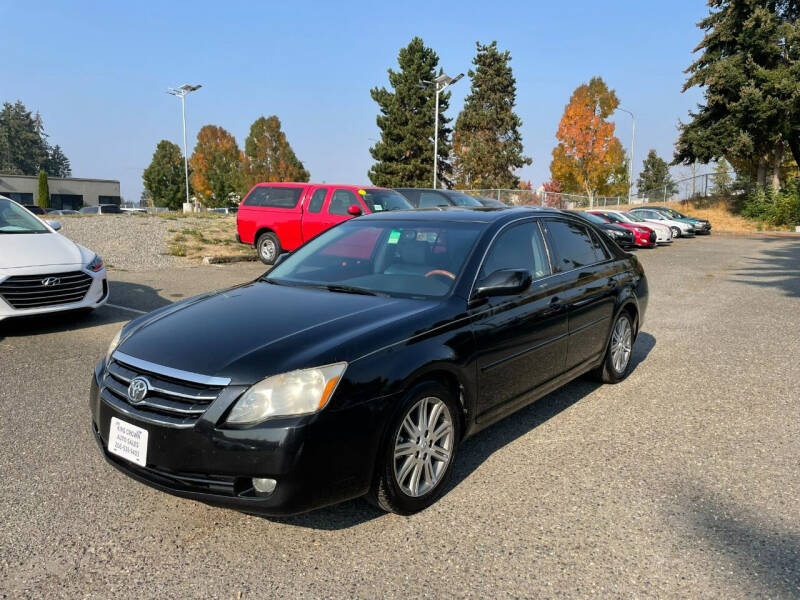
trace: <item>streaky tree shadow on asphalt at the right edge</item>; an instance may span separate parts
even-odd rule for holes
[[[765,243],[784,242],[763,251],[764,256],[748,257],[752,266],[737,270],[732,281],[759,287],[777,288],[792,298],[800,298],[800,240],[765,237]]]

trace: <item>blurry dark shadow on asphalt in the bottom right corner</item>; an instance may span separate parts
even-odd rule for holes
[[[764,597],[800,597],[800,536],[796,530],[778,530],[764,515],[696,486],[688,494],[686,510],[696,535],[720,555],[718,564],[735,565]]]

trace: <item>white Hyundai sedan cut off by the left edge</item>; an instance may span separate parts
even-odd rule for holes
[[[56,233],[60,228],[0,196],[0,321],[105,304],[103,259]]]

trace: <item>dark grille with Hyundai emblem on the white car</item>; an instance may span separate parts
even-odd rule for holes
[[[72,304],[83,300],[91,285],[83,271],[14,275],[0,283],[0,297],[17,309]]]

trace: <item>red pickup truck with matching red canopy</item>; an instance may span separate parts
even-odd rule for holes
[[[360,214],[412,209],[394,190],[317,183],[258,183],[236,213],[236,239],[271,265],[315,235]]]

